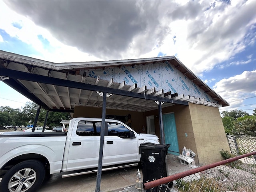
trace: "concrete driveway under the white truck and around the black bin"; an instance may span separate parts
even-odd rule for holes
[[[178,172],[190,170],[189,166],[180,164],[174,158],[168,155],[168,169],[169,175]],[[136,172],[138,166],[130,168],[122,168],[118,170],[111,170],[102,172],[102,179],[100,184],[101,192],[111,192],[123,190],[126,187],[134,186],[136,180]],[[142,169],[140,169],[142,175]],[[96,188],[96,173],[86,174],[81,176],[73,176],[68,178],[61,178],[61,173],[54,174],[50,179],[42,184],[37,192],[94,192]]]

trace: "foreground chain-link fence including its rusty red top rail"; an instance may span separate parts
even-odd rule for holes
[[[190,174],[190,170],[188,174],[183,172],[153,181],[151,185],[154,187],[150,187],[148,182],[144,188],[146,192],[256,191],[256,152],[230,158],[216,165],[195,168],[194,174]]]

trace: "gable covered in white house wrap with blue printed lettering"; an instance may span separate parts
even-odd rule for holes
[[[147,89],[155,87],[156,90],[163,89],[164,92],[171,91],[172,94],[190,95],[195,98],[204,98],[205,101],[215,102],[202,88],[199,88],[191,80],[186,78],[170,62],[157,62],[155,64],[137,64],[134,66],[109,67],[105,70],[91,69],[84,70],[86,76],[114,82],[124,82],[127,85],[137,84],[138,87],[147,86]]]

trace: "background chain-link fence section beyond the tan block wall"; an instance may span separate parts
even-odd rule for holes
[[[246,154],[256,150],[255,137],[237,137],[234,135],[227,135],[228,144],[231,153],[234,155]]]

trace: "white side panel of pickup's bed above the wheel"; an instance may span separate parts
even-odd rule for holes
[[[1,132],[2,133],[2,132]],[[0,166],[11,159],[45,158],[50,173],[60,172],[67,132],[4,132],[0,134]]]

